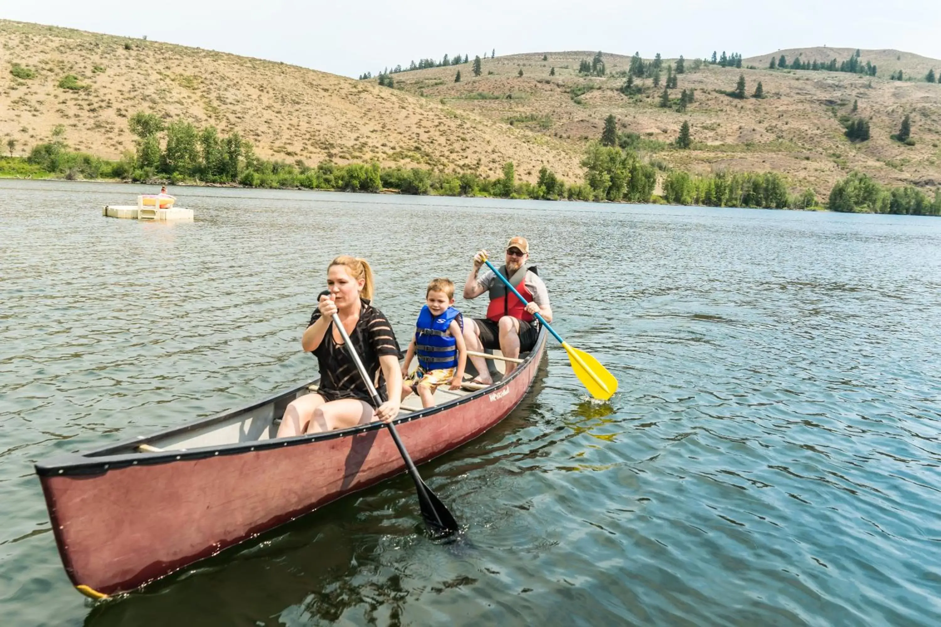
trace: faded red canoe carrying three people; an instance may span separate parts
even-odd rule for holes
[[[485,389],[439,389],[439,404],[428,409],[409,397],[395,425],[414,462],[459,447],[508,415],[533,384],[545,343],[543,331],[518,368]],[[72,584],[92,598],[139,588],[404,472],[381,423],[275,438],[284,408],[316,383],[36,464]]]

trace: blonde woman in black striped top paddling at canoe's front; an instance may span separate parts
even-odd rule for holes
[[[341,256],[327,267],[329,295],[320,299],[311,323],[301,337],[304,351],[317,357],[320,387],[288,405],[278,437],[346,429],[379,419],[389,422],[399,413],[402,371],[399,345],[392,325],[381,311],[370,305],[373,271],[365,259]],[[333,327],[333,314],[340,316],[382,404],[374,407],[369,390],[356,364],[343,349],[343,337]]]

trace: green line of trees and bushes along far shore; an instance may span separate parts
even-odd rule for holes
[[[59,125],[48,142],[34,146],[26,157],[12,156],[15,145],[8,140],[10,156],[0,158],[0,176],[941,215],[941,188],[930,194],[911,185],[889,187],[858,171],[837,181],[825,200],[809,188],[793,193],[789,180],[776,172],[691,174],[642,157],[636,150],[639,138],[618,133],[613,116],[605,120],[599,140],[585,149],[582,182],[566,182],[546,166],[535,182],[518,181],[512,162],[502,165],[502,176],[493,179],[475,172],[383,167],[375,162],[310,166],[301,160],[262,159],[239,133],[221,135],[214,126],[199,128],[185,119],[165,123],[154,114],[138,112],[128,123],[136,150],[117,161],[70,149],[65,127]],[[678,148],[687,148],[689,142],[687,126],[685,132],[680,129]],[[661,193],[655,194],[658,183]]]

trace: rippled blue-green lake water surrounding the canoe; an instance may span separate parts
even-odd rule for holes
[[[8,625],[934,625],[941,220],[0,180],[0,615]],[[32,464],[315,373],[329,259],[369,259],[405,345],[428,279],[526,235],[553,325],[530,396],[407,476],[124,598],[62,569]],[[482,312],[484,299],[458,307]],[[146,489],[146,486],[142,487]]]

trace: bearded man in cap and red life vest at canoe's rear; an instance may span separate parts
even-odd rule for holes
[[[483,349],[500,349],[504,357],[516,358],[520,351],[532,350],[539,336],[539,324],[533,314],[538,312],[547,322],[552,321],[546,284],[536,274],[535,266],[526,263],[529,250],[526,238],[511,238],[506,244],[505,262],[498,268],[500,274],[507,277],[526,299],[528,305],[525,306],[491,271],[488,270],[478,278],[477,273],[489,254],[481,250],[474,255],[473,269],[464,284],[464,298],[477,298],[486,291],[490,296],[490,304],[486,308],[486,318],[469,319],[464,325],[464,341],[468,351],[479,353]],[[480,374],[467,386],[481,387],[493,383],[484,357],[471,356],[470,362]],[[512,372],[513,368],[516,365],[507,362],[506,373]]]

